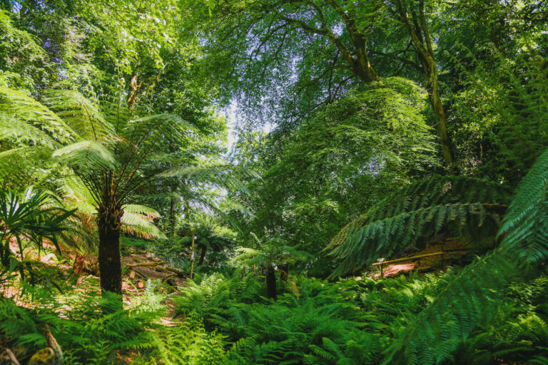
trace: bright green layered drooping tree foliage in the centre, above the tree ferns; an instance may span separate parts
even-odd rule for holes
[[[319,252],[364,207],[435,168],[425,97],[415,83],[386,78],[320,108],[283,141],[262,138],[255,162],[244,154],[255,139],[236,145],[233,158],[262,176],[250,182],[255,194],[238,197],[255,215],[243,215],[246,231]]]

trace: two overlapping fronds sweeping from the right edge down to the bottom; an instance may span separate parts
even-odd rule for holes
[[[390,346],[384,364],[395,357],[409,364],[439,364],[478,324],[489,322],[510,280],[548,257],[547,167],[548,150],[519,184],[499,230],[501,245],[450,279]]]

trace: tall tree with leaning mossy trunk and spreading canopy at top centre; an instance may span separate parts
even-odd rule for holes
[[[260,109],[253,115],[257,120],[275,115],[282,130],[295,128],[315,108],[351,88],[379,80],[379,69],[382,76],[400,73],[400,67],[390,70],[385,63],[420,71],[437,117],[442,156],[451,169],[447,118],[424,4],[417,11],[412,8],[415,18],[408,16],[407,7],[404,1],[220,2],[209,52],[222,62],[235,61],[229,68],[214,65],[222,70],[231,96],[247,99],[243,103],[248,110]],[[410,59],[415,54],[417,62]]]

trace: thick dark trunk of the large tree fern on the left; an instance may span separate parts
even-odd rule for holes
[[[98,207],[99,276],[104,292],[122,294],[120,227],[123,210],[115,197],[103,197]]]

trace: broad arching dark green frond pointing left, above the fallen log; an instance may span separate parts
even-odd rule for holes
[[[421,238],[443,231],[453,237],[466,235],[467,230],[496,224],[508,197],[499,185],[465,177],[437,177],[409,185],[333,238],[325,250],[342,262],[331,277],[397,255]]]

